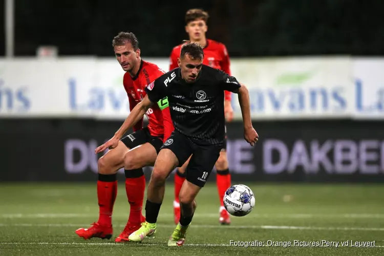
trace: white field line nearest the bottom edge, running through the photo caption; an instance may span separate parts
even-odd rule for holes
[[[47,243],[38,243],[38,242],[0,242],[1,245],[98,245],[98,246],[126,246],[126,243],[55,243],[55,242],[47,242]],[[147,244],[147,243],[140,243],[140,246],[162,246],[161,244]],[[165,246],[165,244],[163,245]],[[184,244],[183,246],[231,246],[229,244]],[[269,247],[268,245],[263,245],[266,247]],[[244,246],[235,246],[235,247],[244,247]],[[249,246],[252,247],[252,246]],[[303,246],[303,247],[329,247],[329,246]],[[377,246],[359,246],[359,247],[384,247],[383,245],[377,245]]]

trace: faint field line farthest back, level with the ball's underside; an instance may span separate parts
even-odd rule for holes
[[[116,214],[114,217],[127,217],[126,215]],[[95,214],[51,214],[51,213],[38,213],[38,214],[0,214],[0,218],[88,218],[95,217]],[[381,219],[384,218],[384,214],[250,214],[254,218],[356,218],[356,219]],[[173,214],[160,214],[159,217],[172,218]],[[194,218],[218,218],[219,214],[199,214],[196,213]]]

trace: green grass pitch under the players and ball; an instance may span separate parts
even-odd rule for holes
[[[384,186],[381,184],[252,184],[256,204],[245,217],[218,222],[214,183],[198,196],[198,208],[184,246],[169,248],[173,224],[173,184],[168,183],[156,237],[141,244],[114,243],[129,213],[119,184],[111,240],[83,240],[75,230],[98,219],[96,184],[9,184],[0,186],[0,255],[383,255]],[[291,246],[230,246],[230,240],[291,242]],[[336,246],[293,246],[339,242]],[[352,247],[375,241],[375,247]],[[349,241],[349,246],[341,242]],[[270,242],[269,242],[270,243]],[[281,244],[284,245],[284,244]],[[326,244],[324,244],[326,245]]]

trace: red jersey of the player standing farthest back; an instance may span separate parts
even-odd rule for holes
[[[173,70],[179,67],[177,63],[177,58],[180,57],[181,45],[174,47],[172,53],[170,53],[170,65],[169,70]],[[207,45],[203,48],[204,51],[204,59],[203,64],[210,66],[215,69],[220,69],[231,75],[229,66],[229,55],[227,52],[227,48],[221,42],[207,39]],[[231,99],[231,92],[225,91],[225,99]]]

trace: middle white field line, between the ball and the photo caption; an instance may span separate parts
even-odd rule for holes
[[[89,224],[30,224],[30,223],[0,223],[0,227],[88,227]],[[124,227],[125,225],[118,225]],[[175,225],[158,225],[159,227],[175,227]],[[298,230],[359,230],[359,231],[384,231],[384,227],[311,227],[311,226],[268,226],[268,225],[248,225],[248,226],[221,226],[221,225],[191,225],[191,228],[233,228],[233,229],[298,229]]]

